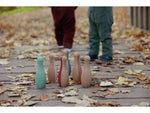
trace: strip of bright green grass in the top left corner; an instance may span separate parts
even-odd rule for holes
[[[11,14],[20,13],[20,12],[32,11],[38,8],[40,7],[17,7],[16,9],[13,9],[10,11],[1,12],[0,16],[6,16],[6,15],[11,15]]]

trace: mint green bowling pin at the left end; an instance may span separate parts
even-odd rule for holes
[[[45,84],[46,84],[46,75],[45,75],[45,71],[43,68],[43,58],[42,57],[38,57],[37,59],[37,71],[36,71],[36,75],[35,75],[35,82],[36,82],[36,86],[37,88],[44,88]]]

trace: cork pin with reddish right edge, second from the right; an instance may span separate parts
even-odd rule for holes
[[[74,53],[74,65],[72,68],[72,77],[76,83],[81,81],[81,74],[82,74],[82,68],[81,68],[79,59],[80,59],[80,54],[75,52]]]

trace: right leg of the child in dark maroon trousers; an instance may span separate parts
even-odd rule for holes
[[[75,8],[67,7],[65,9],[63,17],[63,29],[64,29],[64,48],[71,49],[73,45],[73,37],[75,34]]]

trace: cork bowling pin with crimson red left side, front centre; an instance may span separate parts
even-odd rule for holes
[[[68,85],[69,76],[67,71],[67,58],[65,56],[61,57],[61,67],[58,75],[58,83],[60,87],[65,87]]]

